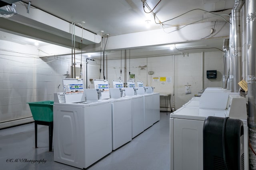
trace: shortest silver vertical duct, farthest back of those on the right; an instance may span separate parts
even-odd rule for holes
[[[222,74],[222,88],[227,88],[227,78],[228,78],[228,69],[229,69],[229,39],[224,39],[223,42],[223,74]]]

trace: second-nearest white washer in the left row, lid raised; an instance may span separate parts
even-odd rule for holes
[[[107,84],[108,80],[94,80],[98,89]],[[109,94],[105,95],[107,92]],[[116,150],[132,140],[132,99],[121,98],[119,88],[104,88],[103,94],[102,100],[108,100],[112,105],[112,150]]]

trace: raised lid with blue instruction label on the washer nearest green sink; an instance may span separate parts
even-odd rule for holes
[[[63,90],[66,103],[84,102],[84,81],[82,78],[64,78]]]

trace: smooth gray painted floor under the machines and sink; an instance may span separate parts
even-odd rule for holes
[[[87,169],[170,170],[169,119],[170,114],[161,111],[160,121]],[[48,126],[38,125],[37,149],[34,123],[0,130],[0,169],[79,170],[54,162],[54,152],[48,150]]]

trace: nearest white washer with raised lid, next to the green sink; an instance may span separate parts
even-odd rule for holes
[[[66,103],[53,106],[54,161],[83,169],[112,152],[111,102],[82,102],[77,81],[63,80]]]

